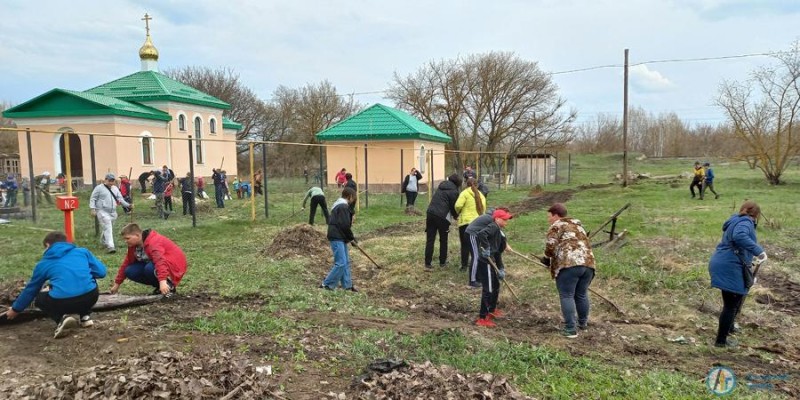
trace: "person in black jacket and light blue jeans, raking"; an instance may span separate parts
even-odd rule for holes
[[[357,198],[356,191],[348,187],[342,190],[342,197],[333,203],[328,220],[328,241],[331,242],[331,251],[333,252],[333,267],[319,285],[320,289],[333,290],[341,283],[344,290],[358,292],[353,286],[353,279],[350,275],[350,255],[347,253],[347,243],[357,245],[356,238],[353,236],[351,208]]]

